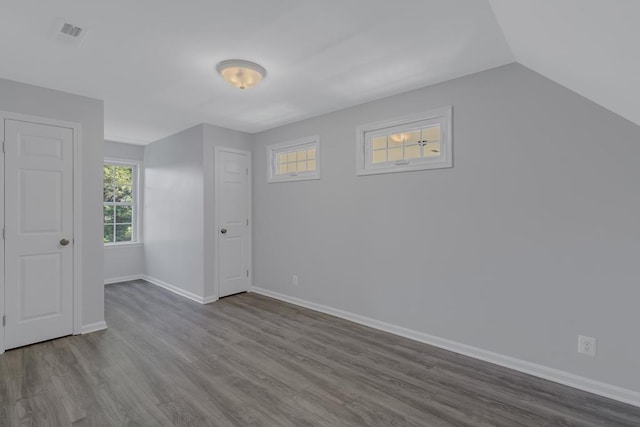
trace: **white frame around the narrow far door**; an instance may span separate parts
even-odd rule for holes
[[[237,148],[229,148],[229,147],[223,147],[220,145],[216,145],[215,146],[215,151],[214,151],[214,159],[213,159],[213,176],[216,182],[215,185],[215,194],[214,194],[214,212],[215,212],[215,218],[214,218],[214,224],[215,224],[215,237],[214,237],[214,245],[215,245],[215,254],[214,254],[214,260],[213,260],[213,267],[215,268],[215,274],[214,274],[214,287],[215,287],[215,292],[216,292],[216,299],[220,298],[220,224],[219,224],[219,219],[221,217],[220,215],[220,180],[218,179],[218,155],[221,152],[227,152],[227,153],[235,153],[235,154],[243,154],[247,156],[247,159],[249,160],[249,174],[248,174],[248,179],[247,179],[247,189],[248,189],[248,201],[247,201],[247,212],[248,212],[248,216],[249,216],[249,227],[248,227],[248,233],[249,233],[249,289],[251,289],[253,287],[253,211],[251,209],[251,199],[253,197],[252,194],[252,190],[251,190],[251,177],[252,177],[252,173],[251,173],[251,151],[247,151],[247,150],[238,150]]]

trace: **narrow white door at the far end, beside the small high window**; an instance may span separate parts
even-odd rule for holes
[[[216,149],[218,297],[249,290],[251,212],[249,152]]]

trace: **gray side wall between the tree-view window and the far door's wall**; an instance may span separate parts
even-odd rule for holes
[[[203,126],[144,147],[144,270],[203,296]]]

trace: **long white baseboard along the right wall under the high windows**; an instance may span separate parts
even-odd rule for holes
[[[337,308],[316,304],[314,302],[281,294],[279,292],[270,291],[268,289],[254,287],[251,289],[251,292],[265,295],[301,307],[309,308],[321,313],[330,314],[332,316],[350,320],[354,323],[359,323],[361,325],[369,326],[374,329],[379,329],[381,331],[409,338],[414,341],[449,350],[454,353],[473,357],[474,359],[479,359],[485,362],[493,363],[495,365],[504,366],[505,368],[524,372],[525,374],[533,375],[545,380],[553,381],[589,393],[597,394],[599,396],[607,397],[609,399],[614,399],[623,403],[628,403],[630,405],[640,407],[640,392],[634,390],[625,389],[615,385],[592,380],[590,378],[574,375],[569,372],[561,371],[559,369],[549,368],[547,366],[527,362],[526,360],[516,359],[511,356],[505,356],[503,354],[483,350],[481,348],[473,347],[467,344],[462,344],[456,341],[451,341],[448,339],[425,334],[424,332],[419,332],[390,323],[381,322],[369,317],[360,316],[359,314],[354,314]]]

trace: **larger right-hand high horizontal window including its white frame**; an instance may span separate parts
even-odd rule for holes
[[[358,175],[449,168],[451,107],[358,128]]]

